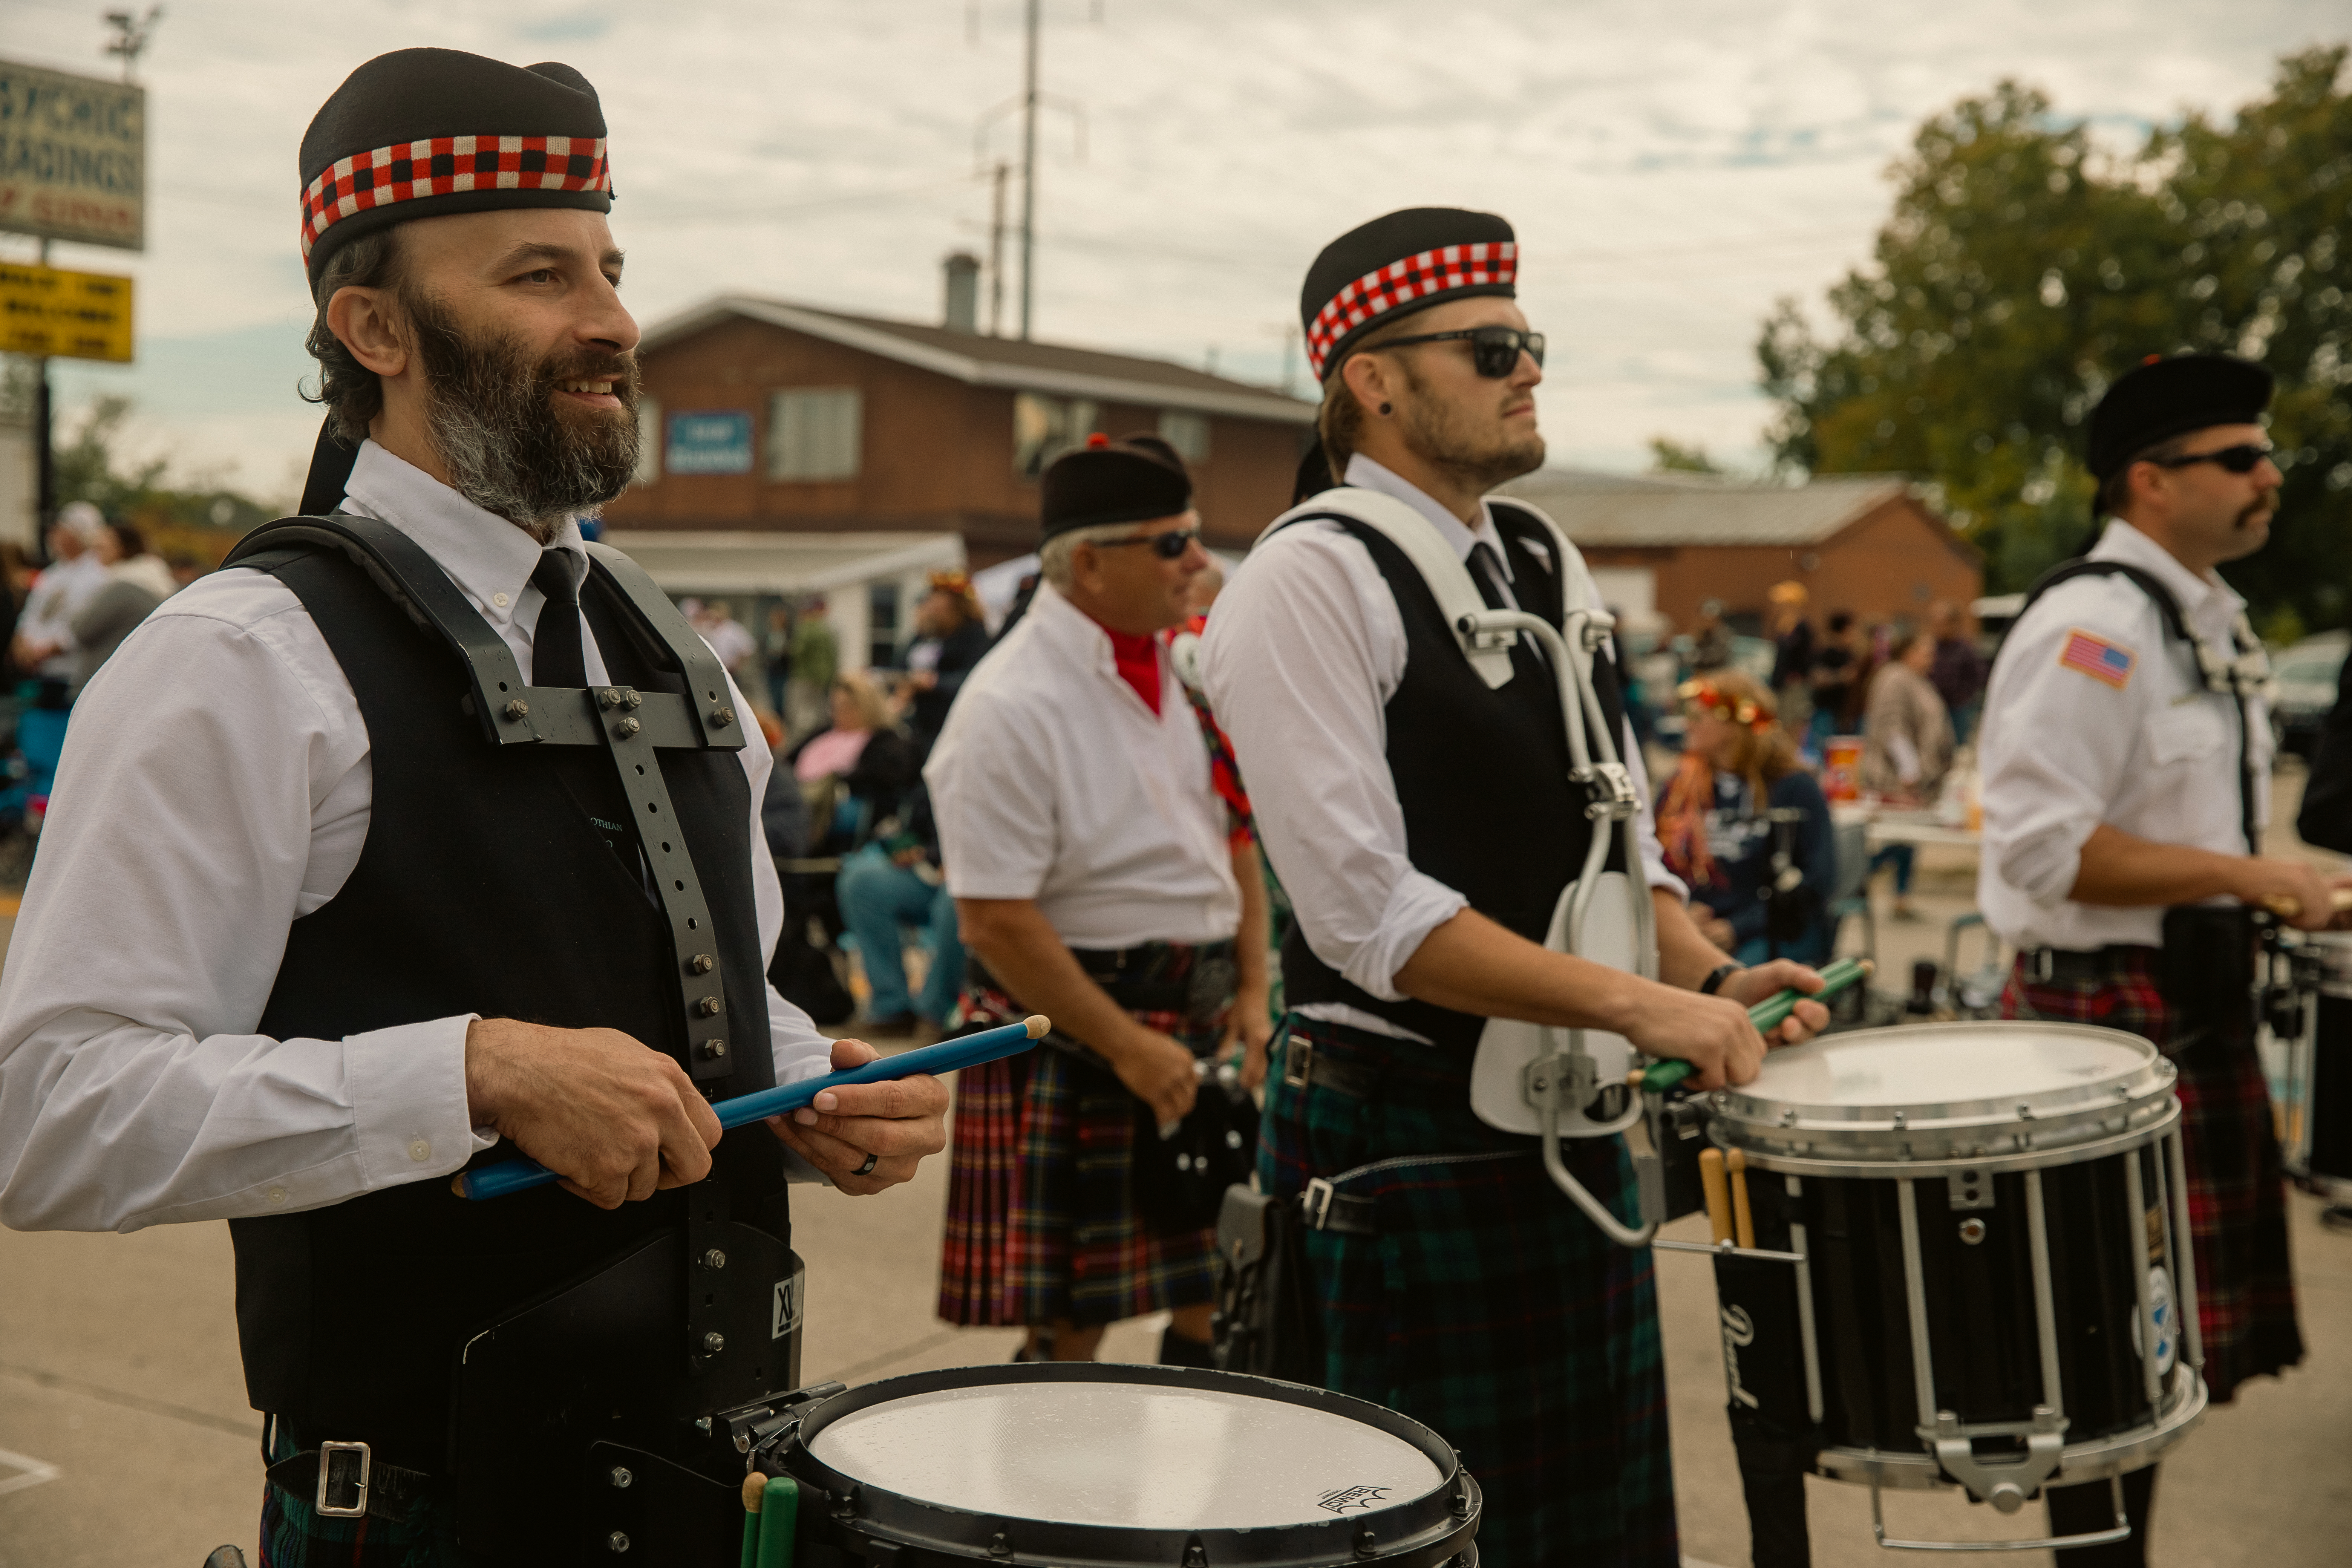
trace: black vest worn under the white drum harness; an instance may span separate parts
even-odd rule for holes
[[[1557,559],[1550,531],[1501,501],[1491,505],[1491,515],[1510,557],[1510,588],[1519,609],[1559,625],[1566,614],[1564,562]],[[1388,698],[1385,715],[1388,771],[1404,806],[1404,844],[1414,870],[1458,891],[1479,914],[1541,943],[1562,889],[1583,872],[1592,844],[1585,790],[1569,778],[1569,729],[1552,670],[1536,656],[1534,642],[1522,637],[1510,654],[1510,679],[1489,686],[1463,656],[1437,595],[1404,550],[1371,524],[1338,512],[1310,512],[1298,522],[1324,520],[1338,522],[1371,550],[1404,618],[1404,679]],[[1529,541],[1541,555],[1526,548]],[[1616,665],[1595,656],[1592,679],[1609,715],[1609,733],[1623,748],[1625,710]],[[1625,870],[1623,849],[1611,846],[1609,870]],[[1343,1001],[1439,1046],[1475,1046],[1486,1027],[1475,1013],[1416,999],[1381,1001],[1350,985],[1315,957],[1296,922],[1282,943],[1282,987],[1289,1006]]]

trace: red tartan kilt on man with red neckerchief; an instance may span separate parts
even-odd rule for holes
[[[1167,943],[1136,980],[1181,983],[1195,952]],[[1230,1001],[1204,1016],[1129,1016],[1209,1056]],[[993,985],[964,987],[964,1020],[974,1027],[1025,1016]],[[1120,1074],[1058,1034],[1023,1056],[962,1070],[948,1140],[938,1316],[964,1326],[1091,1328],[1214,1300],[1216,1232],[1164,1232],[1136,1213],[1134,1131],[1136,1095]]]

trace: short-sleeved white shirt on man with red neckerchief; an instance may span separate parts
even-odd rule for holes
[[[1223,943],[1242,924],[1225,802],[1171,661],[1155,715],[1051,583],[964,677],[922,778],[957,898],[1030,898],[1070,947]]]

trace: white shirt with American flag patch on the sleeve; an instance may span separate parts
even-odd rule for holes
[[[2110,522],[2091,559],[2140,567],[2171,588],[2190,632],[2232,658],[2244,611],[2218,576],[2197,576],[2129,522]],[[2074,663],[2065,663],[2067,651]],[[2105,675],[2084,672],[2084,663]],[[2129,668],[2126,668],[2129,665]],[[2256,825],[2270,818],[2270,708],[2249,698]],[[2074,903],[2082,844],[2100,823],[2225,856],[2239,825],[2237,705],[2206,691],[2197,656],[2124,576],[2051,588],[2009,628],[1983,719],[1985,851],[1976,903],[2016,947],[2159,945],[2164,910]]]

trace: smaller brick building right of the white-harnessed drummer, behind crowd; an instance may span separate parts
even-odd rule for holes
[[[1733,484],[1545,468],[1503,489],[1550,512],[1611,604],[1684,632],[1705,599],[1722,599],[1738,630],[1762,630],[1764,595],[1785,581],[1806,585],[1816,621],[1851,609],[1865,623],[1985,590],[1976,545],[1896,475]]]

